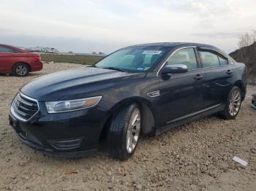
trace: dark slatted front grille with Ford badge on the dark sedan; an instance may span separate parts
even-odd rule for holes
[[[39,111],[37,101],[29,96],[18,93],[12,101],[11,112],[15,112],[22,120],[29,120]]]

